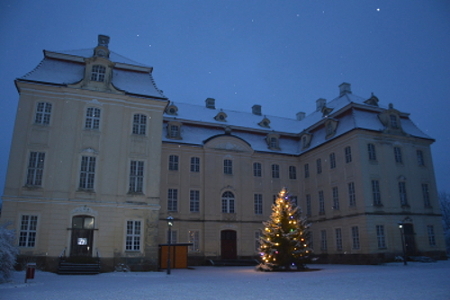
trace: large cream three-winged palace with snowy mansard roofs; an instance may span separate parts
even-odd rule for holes
[[[441,257],[430,145],[393,104],[348,83],[293,118],[169,100],[152,67],[109,50],[44,51],[15,83],[19,104],[1,222],[22,260],[56,270],[93,257],[103,271],[159,266],[159,245],[189,243],[190,264],[258,257],[287,187],[322,261]],[[172,216],[168,231],[166,218]]]

